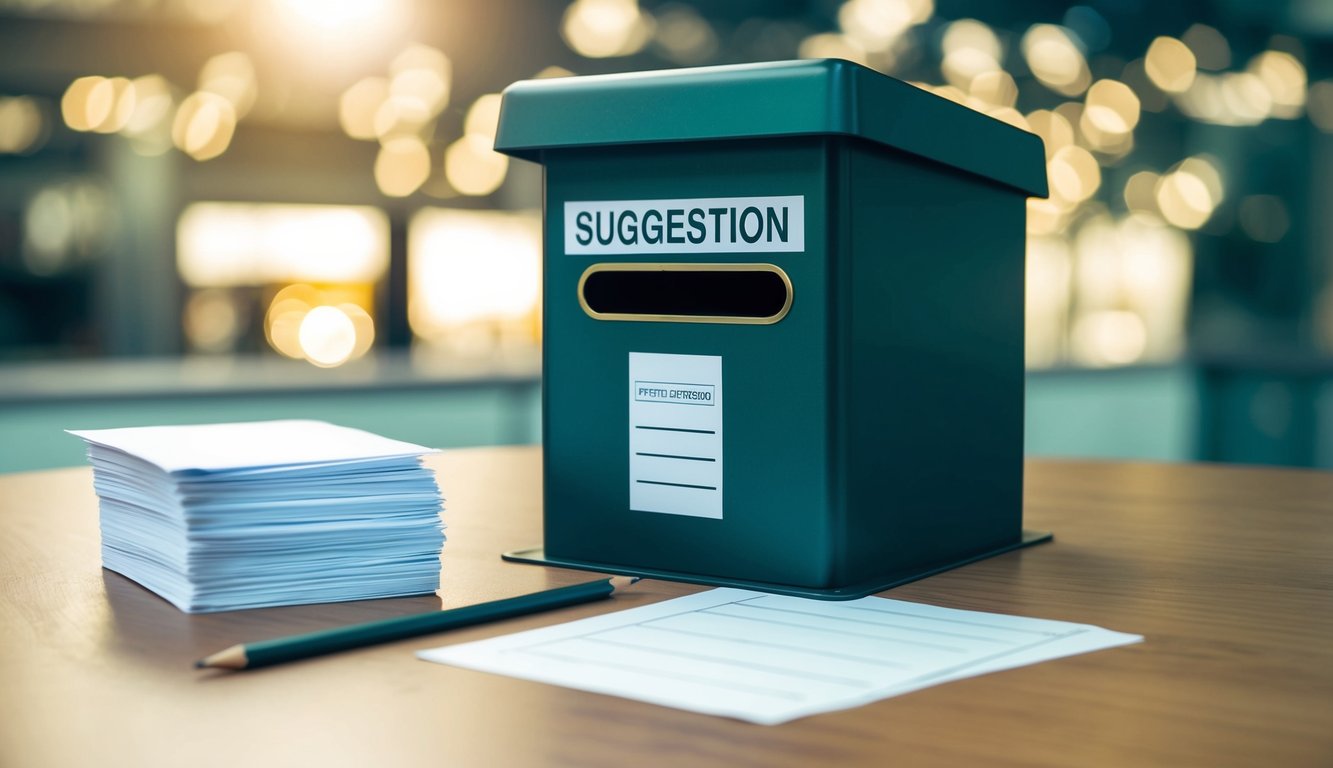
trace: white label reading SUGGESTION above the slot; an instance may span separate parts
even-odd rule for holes
[[[805,196],[565,203],[565,253],[805,251]]]

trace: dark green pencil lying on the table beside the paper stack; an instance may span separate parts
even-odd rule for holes
[[[380,643],[392,643],[404,637],[431,635],[456,629],[485,621],[499,621],[512,616],[524,616],[539,611],[551,611],[579,603],[591,603],[603,597],[611,597],[619,589],[629,587],[637,577],[615,576],[584,584],[557,587],[532,595],[520,595],[491,603],[479,603],[463,608],[448,611],[432,611],[431,613],[417,613],[413,616],[400,616],[397,619],[384,619],[380,621],[367,621],[352,624],[336,629],[324,629],[305,635],[292,635],[259,643],[232,645],[219,651],[212,656],[205,656],[195,661],[196,669],[220,667],[224,669],[255,669],[256,667],[269,667],[284,661],[336,653],[351,648],[363,648]]]

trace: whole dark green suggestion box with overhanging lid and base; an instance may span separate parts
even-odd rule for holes
[[[846,61],[524,81],[545,168],[544,547],[845,599],[1022,531],[1041,140]]]

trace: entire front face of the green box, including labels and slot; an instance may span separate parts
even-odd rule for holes
[[[552,556],[825,585],[820,140],[551,152]]]

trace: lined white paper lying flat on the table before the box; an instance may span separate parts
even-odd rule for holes
[[[419,656],[773,725],[1141,640],[884,597],[833,603],[712,589]]]

